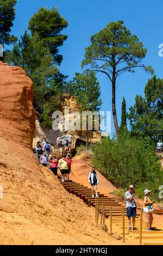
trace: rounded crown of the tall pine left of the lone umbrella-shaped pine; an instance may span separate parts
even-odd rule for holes
[[[29,29],[32,35],[39,34],[43,44],[49,48],[53,55],[54,63],[60,64],[62,56],[58,54],[58,47],[62,46],[67,39],[67,35],[62,35],[62,29],[68,26],[68,22],[61,17],[57,8],[52,10],[40,8],[39,11],[29,21]]]

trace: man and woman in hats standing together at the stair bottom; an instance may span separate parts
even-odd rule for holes
[[[151,190],[145,190],[144,194],[144,206],[143,211],[146,214],[146,225],[147,225],[147,231],[153,231],[152,223],[153,223],[153,204],[154,201],[151,201],[149,198],[149,195],[151,193]],[[130,185],[128,191],[125,193],[126,198],[126,209],[127,209],[127,217],[128,217],[128,227],[129,230],[131,229],[131,217],[133,218],[133,230],[137,230],[135,227],[135,218],[136,218],[136,202],[134,197],[134,186]]]

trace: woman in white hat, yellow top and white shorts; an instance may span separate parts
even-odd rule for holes
[[[152,231],[152,223],[153,223],[153,204],[154,202],[151,201],[151,199],[149,198],[149,194],[151,192],[151,190],[145,190],[145,198],[144,198],[144,208],[143,211],[146,214],[146,224],[147,224],[147,231]]]

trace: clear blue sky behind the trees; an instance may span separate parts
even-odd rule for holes
[[[143,60],[152,65],[157,77],[162,78],[163,58],[159,57],[159,44],[163,43],[161,0],[17,0],[16,19],[12,34],[20,37],[28,27],[30,17],[40,7],[52,8],[55,5],[69,26],[62,33],[68,35],[60,54],[64,60],[60,71],[73,78],[75,72],[81,72],[85,47],[90,45],[91,35],[103,29],[110,21],[124,20],[124,25],[131,34],[136,34],[147,47],[147,56]],[[104,75],[97,75],[102,92],[102,111],[111,111],[111,84]],[[145,84],[152,76],[140,68],[134,74],[122,74],[117,80],[116,108],[118,123],[121,121],[121,104],[123,96],[127,109],[134,104],[136,94],[144,94]],[[111,132],[114,132],[113,120]]]

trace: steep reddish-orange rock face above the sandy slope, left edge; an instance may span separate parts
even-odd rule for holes
[[[23,69],[0,62],[0,135],[32,147],[33,82]]]

